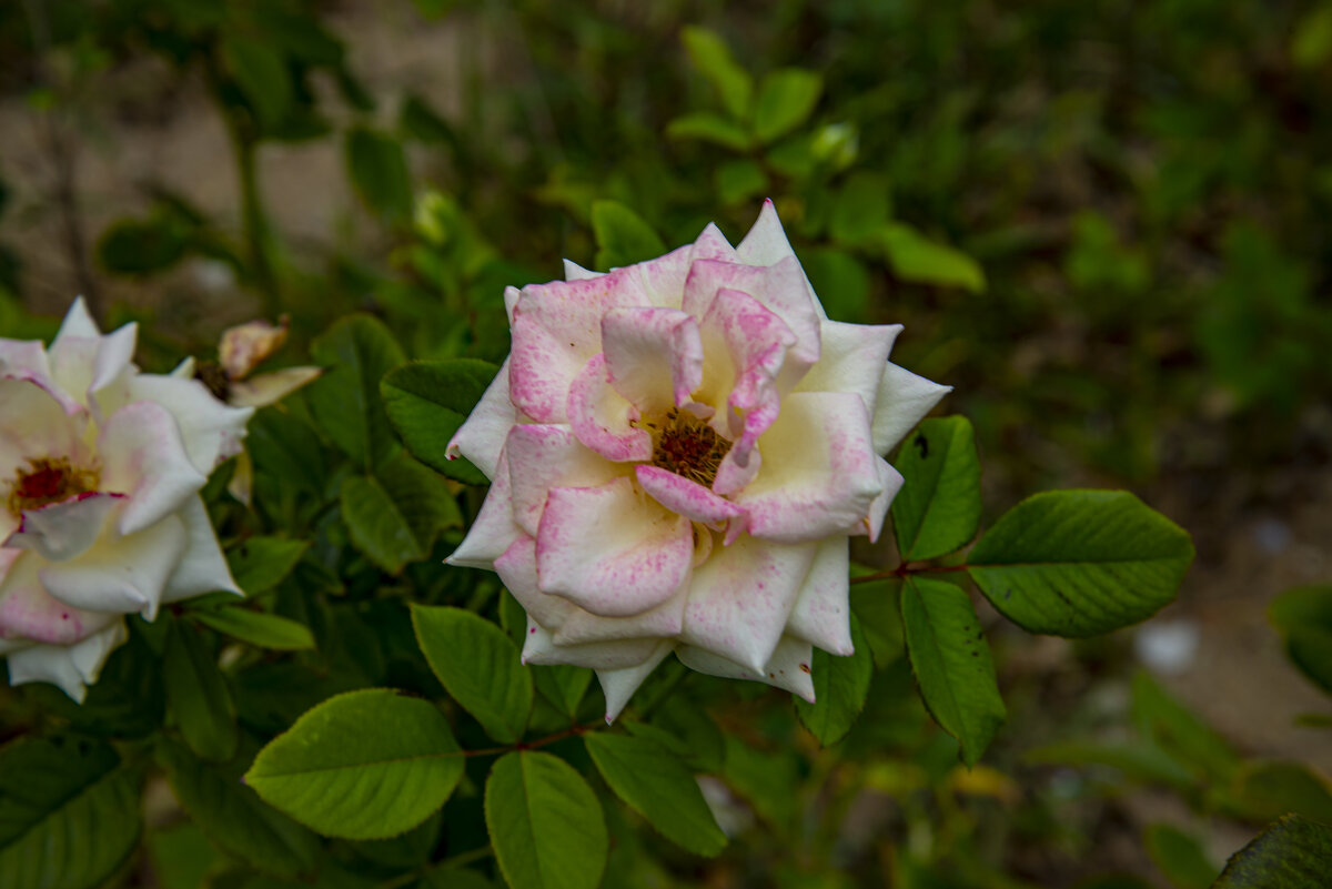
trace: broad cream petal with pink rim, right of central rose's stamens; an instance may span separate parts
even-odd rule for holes
[[[782,543],[852,534],[883,492],[852,393],[793,393],[763,437],[763,470],[734,498],[749,532]]]

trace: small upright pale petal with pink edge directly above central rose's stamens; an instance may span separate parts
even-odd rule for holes
[[[703,382],[698,321],[678,309],[611,309],[601,345],[610,385],[641,411],[685,405]]]

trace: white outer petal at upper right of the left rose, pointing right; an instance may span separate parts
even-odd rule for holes
[[[197,379],[160,374],[139,374],[131,379],[129,398],[132,402],[156,402],[170,411],[190,463],[204,475],[226,458],[240,454],[245,423],[254,414],[253,407],[232,407],[213,398]]]

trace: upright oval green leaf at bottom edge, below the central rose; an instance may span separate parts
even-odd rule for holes
[[[597,795],[567,763],[505,753],[486,781],[486,829],[511,889],[595,889],[610,842]]]

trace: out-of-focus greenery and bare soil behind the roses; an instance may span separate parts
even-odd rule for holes
[[[735,242],[771,197],[830,315],[904,323],[894,361],[955,387],[990,518],[1128,487],[1191,531],[1135,631],[988,627],[1010,723],[972,784],[859,775],[844,842],[938,864],[902,885],[972,885],[939,876],[963,841],[1015,881],[984,885],[1207,885],[1172,862],[1287,797],[1134,759],[1193,729],[1332,817],[1328,699],[1268,619],[1332,582],[1327,0],[24,0],[0,60],[0,335],[81,293],[149,370],[282,313],[297,363],[353,310],[500,361],[506,285]]]

